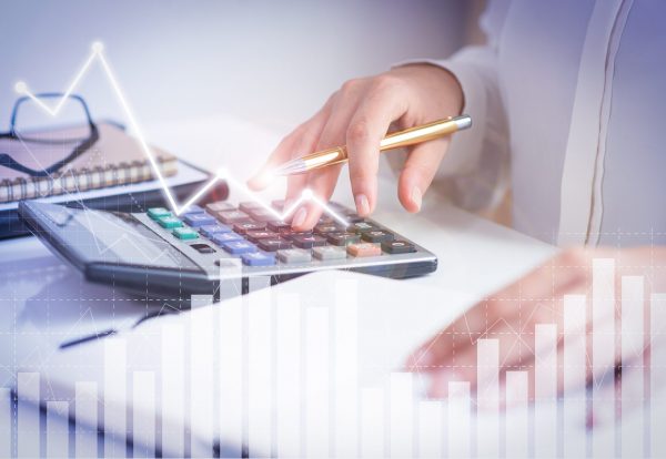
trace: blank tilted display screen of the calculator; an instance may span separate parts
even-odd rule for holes
[[[46,212],[79,258],[190,272],[201,269],[130,214],[53,206]]]

